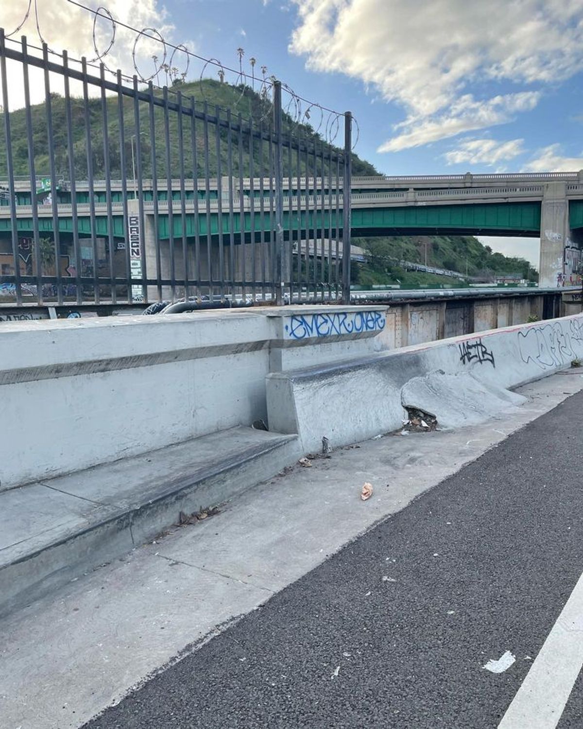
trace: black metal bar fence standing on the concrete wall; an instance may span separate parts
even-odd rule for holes
[[[0,83],[0,303],[349,301],[350,113],[338,149],[277,81],[243,118],[1,29]]]

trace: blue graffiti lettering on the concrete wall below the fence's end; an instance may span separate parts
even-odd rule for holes
[[[385,321],[380,311],[294,314],[286,319],[283,336],[286,339],[302,340],[381,332],[385,328]]]

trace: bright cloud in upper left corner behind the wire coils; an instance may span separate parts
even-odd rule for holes
[[[23,20],[26,11],[26,2],[12,2],[2,5],[1,25],[7,34],[17,28]],[[134,28],[157,28],[160,33],[168,39],[171,36],[174,26],[169,22],[165,8],[158,0],[108,0],[106,3],[111,15],[116,20],[126,23]],[[95,59],[95,47],[93,46],[93,13],[75,7],[65,1],[39,2],[39,28],[42,37],[50,49],[61,52],[66,49],[70,58],[81,58],[85,56],[87,61]],[[28,17],[23,27],[13,36],[13,39],[20,39],[21,35],[28,37],[30,45],[40,45],[39,34],[36,30],[34,12]],[[111,50],[103,58],[103,62],[109,69],[122,69],[124,74],[133,76],[136,70],[133,66],[132,50],[136,41],[136,33],[118,25],[115,32],[115,42]],[[106,18],[98,18],[95,23],[95,42],[99,53],[104,52],[111,42],[111,22]],[[15,47],[7,43],[9,47]],[[194,50],[192,46],[187,46]],[[38,52],[31,50],[31,54]],[[172,49],[167,50],[166,63],[170,61]],[[157,55],[158,65],[163,63],[163,44],[152,39],[141,36],[136,43],[136,63],[141,75],[148,77],[154,72],[152,55]],[[184,53],[176,52],[172,65],[184,70],[186,66]],[[95,61],[98,63],[99,61]],[[24,95],[23,85],[20,81],[22,69],[15,63],[10,63],[13,69],[13,78],[18,82],[9,81],[9,102],[12,109],[23,106]],[[72,68],[78,66],[71,63]],[[98,69],[90,69],[91,74],[98,75]],[[58,93],[62,93],[62,83],[59,87],[59,79],[56,74],[51,75],[51,83]],[[160,77],[162,81],[162,77]],[[77,84],[71,85],[72,93],[79,93]],[[36,103],[44,99],[44,85],[42,72],[31,68],[31,101]]]

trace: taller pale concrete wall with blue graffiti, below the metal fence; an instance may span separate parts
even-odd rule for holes
[[[267,373],[372,354],[385,309],[0,324],[0,489],[266,421]]]

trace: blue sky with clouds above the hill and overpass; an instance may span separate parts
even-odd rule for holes
[[[80,0],[87,7],[99,3]],[[266,66],[308,101],[356,117],[356,152],[383,174],[575,171],[583,168],[583,0],[101,0],[134,28],[254,74]],[[0,4],[11,34],[29,0]],[[31,0],[15,37],[93,58],[111,23],[68,0]],[[151,33],[151,31],[149,31]],[[239,58],[237,49],[243,49]],[[152,73],[161,43],[121,26],[104,61]],[[168,50],[167,60],[171,50]],[[197,79],[203,63],[176,52]],[[215,66],[205,75],[216,77]],[[236,74],[227,71],[226,80]],[[255,81],[257,87],[260,80]],[[33,84],[33,95],[42,85]],[[284,94],[285,99],[290,99]],[[37,99],[38,100],[38,99]],[[12,108],[22,98],[10,98]],[[292,102],[293,104],[293,102]],[[308,107],[302,101],[302,112]],[[322,120],[321,130],[326,126]],[[321,120],[311,109],[315,126]],[[340,137],[336,140],[340,141]],[[538,263],[538,242],[489,238]]]

